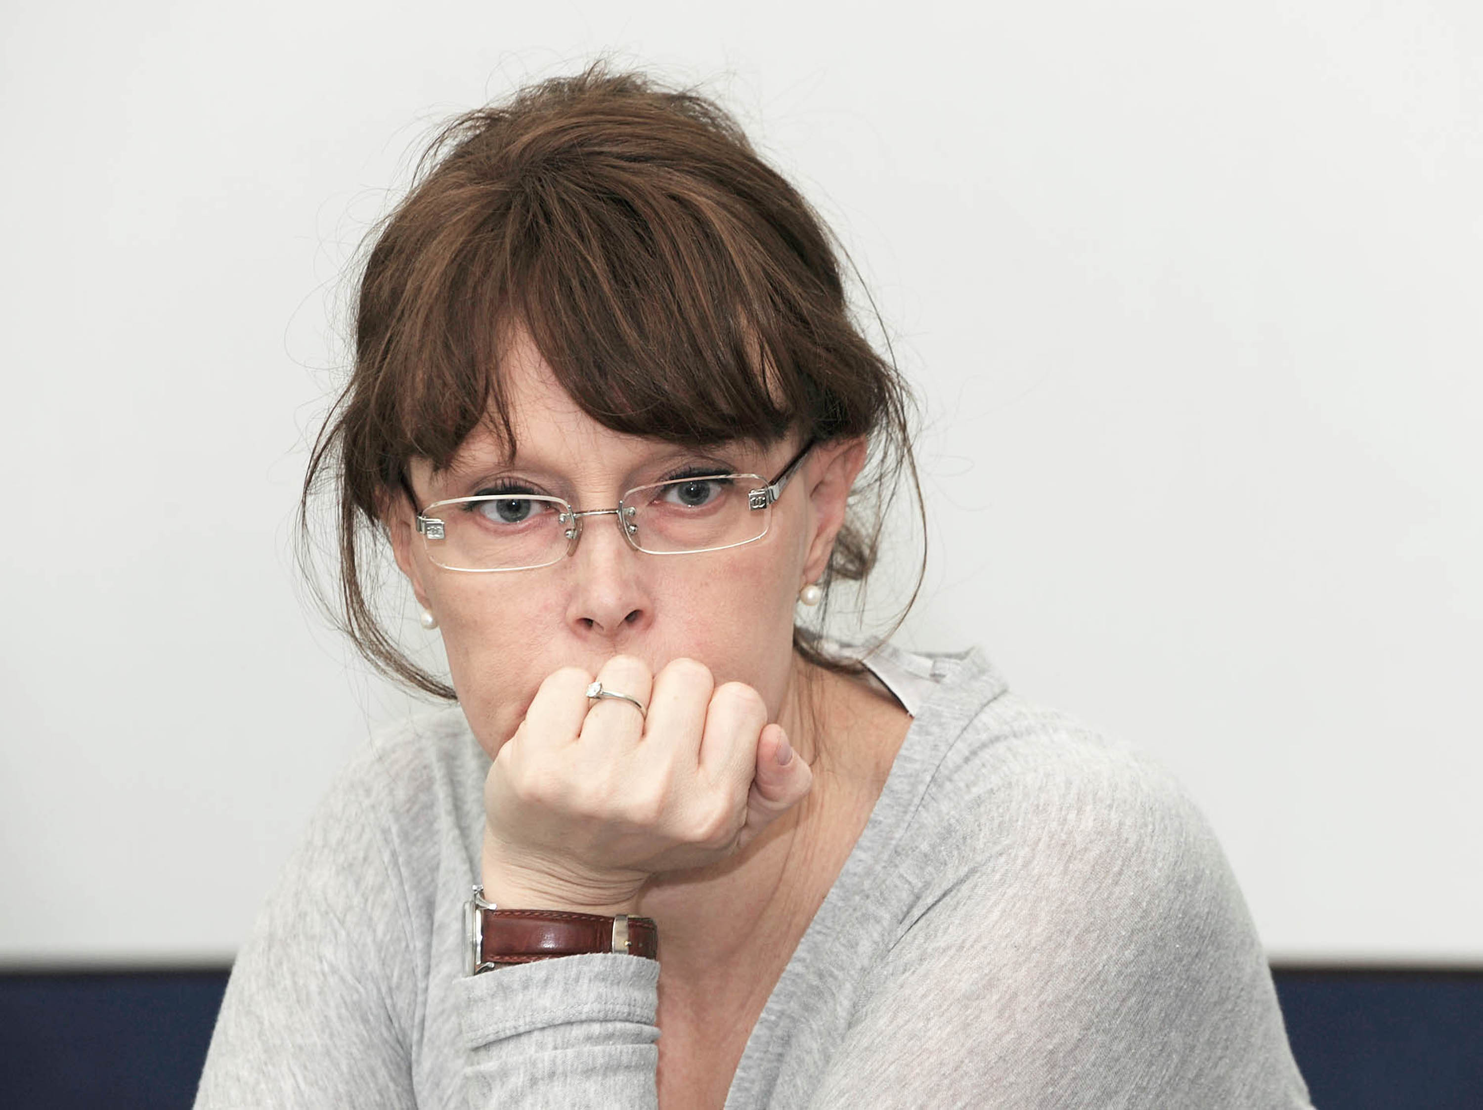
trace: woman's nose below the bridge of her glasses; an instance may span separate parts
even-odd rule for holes
[[[577,550],[567,559],[567,624],[583,639],[623,643],[653,622],[644,557],[623,538],[617,514],[583,516]]]

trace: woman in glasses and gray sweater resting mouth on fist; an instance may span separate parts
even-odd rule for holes
[[[799,622],[871,569],[905,413],[715,105],[595,67],[457,122],[305,483],[357,645],[457,705],[317,814],[197,1104],[1307,1106],[1158,769],[977,651]],[[451,686],[375,621],[362,522]]]

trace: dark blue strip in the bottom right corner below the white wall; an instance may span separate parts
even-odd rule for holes
[[[1320,1110],[1483,1110],[1483,972],[1272,972]]]

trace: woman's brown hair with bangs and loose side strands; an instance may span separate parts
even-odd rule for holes
[[[448,467],[480,422],[513,451],[498,362],[516,325],[614,431],[693,446],[869,436],[873,462],[826,590],[875,565],[903,467],[921,511],[911,397],[854,325],[828,231],[704,96],[602,62],[528,86],[448,123],[372,237],[354,369],[310,455],[300,551],[328,479],[340,599],[326,608],[384,674],[454,698],[372,612],[363,541],[408,488],[411,458]],[[857,668],[807,628],[793,645],[822,667]]]

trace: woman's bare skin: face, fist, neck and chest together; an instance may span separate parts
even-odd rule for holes
[[[503,370],[516,458],[479,430],[448,471],[414,459],[420,504],[516,476],[578,508],[611,507],[687,464],[771,477],[801,446],[790,436],[697,453],[611,431],[523,333]],[[863,459],[863,440],[817,445],[762,539],[701,554],[639,553],[615,517],[589,517],[575,554],[552,566],[464,574],[432,563],[405,498],[386,514],[494,760],[486,897],[658,922],[661,1103],[724,1101],[906,731],[894,699],[792,651],[798,591],[828,566]],[[635,695],[647,719],[621,701],[589,702],[595,676]]]

